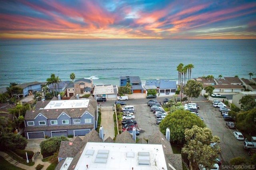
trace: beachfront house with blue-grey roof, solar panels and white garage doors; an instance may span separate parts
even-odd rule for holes
[[[146,80],[144,88],[156,89],[158,93],[175,93],[176,92],[176,81],[170,79],[155,79],[155,80]]]

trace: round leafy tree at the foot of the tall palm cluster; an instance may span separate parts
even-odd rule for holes
[[[198,98],[203,89],[203,85],[195,80],[188,80],[186,86],[184,87],[184,94],[189,97],[189,102],[191,98]]]

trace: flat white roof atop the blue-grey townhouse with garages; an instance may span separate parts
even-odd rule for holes
[[[44,109],[68,109],[68,108],[87,108],[90,99],[86,100],[52,100]]]

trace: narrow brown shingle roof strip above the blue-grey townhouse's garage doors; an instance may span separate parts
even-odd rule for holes
[[[94,124],[85,124],[85,125],[61,125],[61,126],[34,126],[34,127],[25,127],[24,132],[28,131],[53,131],[53,130],[71,130],[71,129],[92,129]]]

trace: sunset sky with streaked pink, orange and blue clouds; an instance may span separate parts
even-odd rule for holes
[[[256,0],[0,0],[0,38],[256,39]]]

